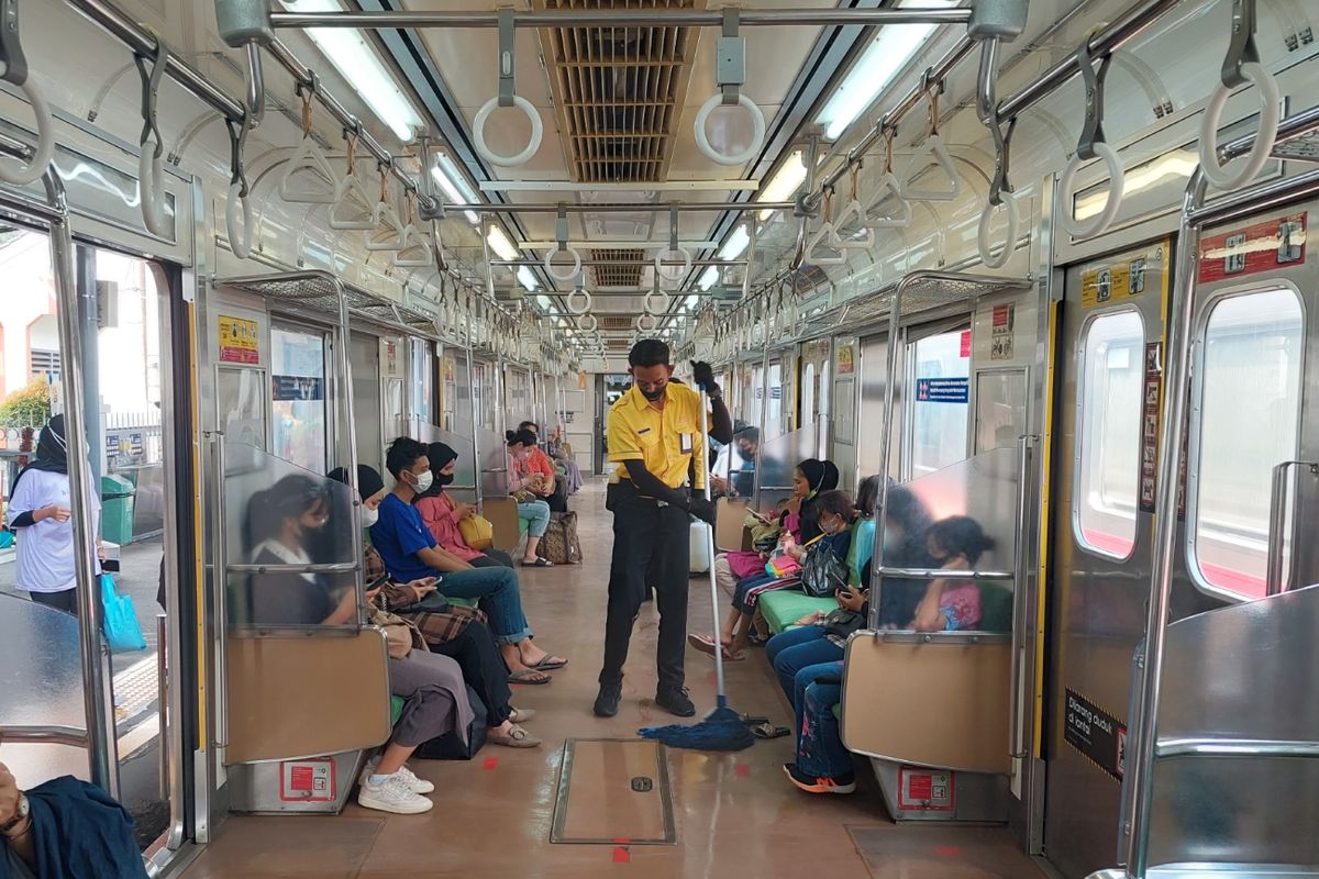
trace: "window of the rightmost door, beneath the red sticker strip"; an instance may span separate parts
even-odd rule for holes
[[[1204,588],[1265,594],[1272,470],[1297,455],[1303,327],[1301,299],[1286,287],[1225,297],[1210,311],[1187,468],[1191,567]]]

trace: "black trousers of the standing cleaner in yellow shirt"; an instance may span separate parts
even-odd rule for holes
[[[613,507],[613,560],[609,567],[609,609],[604,623],[601,684],[623,680],[632,626],[646,586],[654,586],[660,610],[656,667],[660,689],[683,684],[687,638],[687,567],[691,518],[674,506],[640,497],[620,497]],[[648,577],[648,572],[652,573]],[[649,584],[648,584],[649,580]]]

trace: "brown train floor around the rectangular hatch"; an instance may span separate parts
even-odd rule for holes
[[[521,569],[522,600],[537,640],[570,660],[553,684],[514,689],[516,705],[537,709],[528,726],[545,739],[543,747],[487,745],[471,762],[413,760],[414,771],[437,787],[435,808],[421,816],[371,812],[351,801],[335,817],[231,817],[183,874],[186,879],[1041,875],[1006,830],[892,824],[868,768],[859,774],[861,787],[852,796],[797,791],[782,770],[793,759],[793,737],[760,741],[735,754],[669,749],[674,845],[551,843],[565,742],[634,739],[640,726],[674,721],[652,704],[658,618],[649,604],[637,619],[617,717],[600,720],[591,713],[612,546],[603,494],[603,485],[588,484],[572,499],[582,565]],[[691,631],[710,629],[708,593],[707,580],[691,580]],[[715,702],[714,663],[690,648],[687,684],[698,712],[707,712]],[[790,708],[760,651],[729,666],[728,688],[733,708],[791,726]],[[607,814],[600,820],[608,826]]]

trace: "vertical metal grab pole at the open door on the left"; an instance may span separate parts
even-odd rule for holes
[[[58,213],[50,221],[50,266],[54,274],[59,347],[67,357],[63,372],[65,440],[69,447],[69,492],[73,498],[74,565],[78,597],[78,633],[82,652],[83,697],[87,717],[87,762],[91,780],[119,799],[119,737],[115,729],[115,698],[106,673],[100,589],[95,576],[96,536],[92,534],[91,460],[83,443],[87,435],[83,389],[83,337],[79,332],[79,294],[74,283],[74,240],[63,183],[51,170],[45,174],[46,199]],[[95,287],[92,289],[95,293]]]

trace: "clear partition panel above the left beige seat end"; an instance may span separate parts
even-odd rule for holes
[[[224,456],[230,627],[356,629],[352,489],[253,445],[226,443]]]

